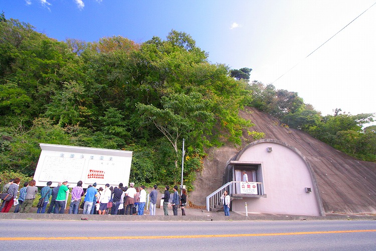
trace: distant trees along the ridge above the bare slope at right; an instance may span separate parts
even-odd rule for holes
[[[278,118],[279,124],[303,130],[355,158],[376,161],[376,126],[364,127],[374,114],[351,115],[336,108],[333,115],[322,116],[296,92],[276,90],[272,84],[257,81],[248,88],[253,93],[251,105]]]

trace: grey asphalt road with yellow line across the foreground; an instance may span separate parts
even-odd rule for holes
[[[376,250],[376,220],[0,220],[1,250]]]

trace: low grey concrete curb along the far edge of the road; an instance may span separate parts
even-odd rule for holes
[[[224,216],[224,215],[97,215],[97,214],[37,214],[37,213],[0,213],[0,220],[82,220],[88,221],[277,221],[277,220],[376,220],[376,216]],[[86,220],[82,220],[86,221]]]

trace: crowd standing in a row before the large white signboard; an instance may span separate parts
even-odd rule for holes
[[[0,179],[0,184],[1,184]],[[21,183],[20,178],[11,179],[2,189],[2,203],[0,207],[1,212],[9,212],[12,206],[15,205],[15,213],[30,212],[33,202],[38,193],[36,181],[31,180],[25,182],[24,187],[19,190]],[[104,189],[100,187],[97,189],[97,183],[89,185],[88,188],[82,188],[82,181],[77,182],[77,185],[70,189],[68,181],[58,182],[54,188],[51,187],[52,182],[47,182],[46,186],[40,191],[41,198],[38,202],[37,213],[45,213],[47,205],[47,213],[61,214],[65,213],[67,206],[68,193],[71,194],[69,204],[69,213],[78,214],[79,208],[83,209],[83,214],[128,214],[128,215],[143,215],[146,205],[147,192],[145,186],[134,187],[134,183],[130,182],[129,187],[123,186],[120,183],[118,187],[112,187],[106,184]],[[157,185],[153,186],[149,193],[149,214],[155,215],[155,208],[157,203]],[[168,215],[168,203],[170,199],[169,186],[165,186],[163,197],[163,212]],[[186,205],[186,190],[182,189],[182,194],[179,196],[178,187],[173,187],[172,195],[172,211],[173,215],[177,215],[178,207],[181,208],[181,215],[185,215],[184,206]],[[83,198],[83,200],[82,200]]]

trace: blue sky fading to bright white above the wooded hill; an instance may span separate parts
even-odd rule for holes
[[[120,35],[142,43],[153,36],[165,39],[171,30],[185,32],[211,63],[252,68],[250,82],[295,91],[326,115],[335,108],[376,112],[375,3],[0,0],[0,11],[59,41]]]

